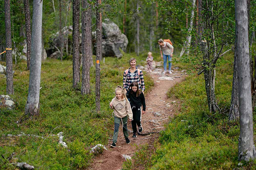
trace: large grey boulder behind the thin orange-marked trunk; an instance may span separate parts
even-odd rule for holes
[[[96,31],[92,32],[92,38],[95,42]],[[119,27],[108,19],[102,22],[102,56],[122,57],[120,48],[126,51],[128,39]]]

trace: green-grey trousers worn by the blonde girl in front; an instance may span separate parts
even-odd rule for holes
[[[114,130],[114,136],[113,136],[113,142],[117,142],[117,136],[118,136],[118,129],[120,123],[123,122],[123,132],[124,132],[124,138],[128,137],[128,130],[127,130],[127,116],[123,117],[122,120],[121,118],[114,117],[114,122],[115,122],[115,130]]]

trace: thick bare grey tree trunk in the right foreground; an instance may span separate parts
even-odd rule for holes
[[[235,0],[235,16],[237,36],[236,54],[238,69],[238,98],[240,112],[238,159],[249,161],[254,159],[256,151],[253,142],[252,95],[246,0]]]

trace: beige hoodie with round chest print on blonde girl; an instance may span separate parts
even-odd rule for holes
[[[130,105],[130,102],[124,99],[121,99],[120,101],[115,97],[111,100],[113,103],[111,109],[114,109],[114,114],[118,118],[123,118],[126,115],[128,115],[129,119],[132,119],[132,108]]]

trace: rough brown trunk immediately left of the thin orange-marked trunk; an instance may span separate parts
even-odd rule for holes
[[[81,94],[90,93],[90,58],[92,56],[90,52],[89,44],[92,44],[92,8],[87,2],[83,2],[83,8],[86,9],[82,11],[82,50],[83,50],[83,68],[82,68],[82,88]]]

